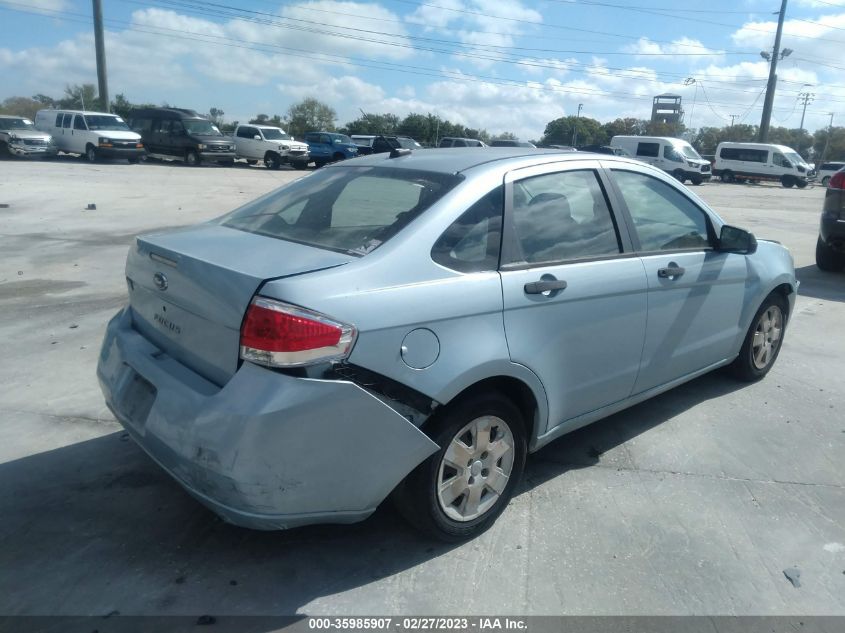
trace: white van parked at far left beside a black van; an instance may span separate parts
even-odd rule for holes
[[[116,114],[39,110],[35,127],[50,134],[59,151],[80,154],[92,163],[99,158],[126,158],[137,163],[144,155],[141,136]]]

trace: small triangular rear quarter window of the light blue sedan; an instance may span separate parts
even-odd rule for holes
[[[496,187],[446,229],[431,249],[431,258],[461,272],[496,270],[504,204],[504,187]]]

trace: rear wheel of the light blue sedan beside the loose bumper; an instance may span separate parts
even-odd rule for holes
[[[497,393],[449,405],[426,429],[440,450],[397,487],[399,512],[417,529],[455,542],[489,528],[504,511],[525,468],[525,423]]]

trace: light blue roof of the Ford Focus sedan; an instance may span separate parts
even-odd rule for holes
[[[545,159],[545,160],[544,160]],[[557,161],[578,161],[585,159],[593,160],[621,160],[641,166],[638,161],[629,160],[620,156],[608,154],[591,154],[589,152],[570,152],[554,149],[534,149],[527,147],[468,147],[460,152],[451,149],[422,149],[411,150],[411,153],[404,154],[397,158],[390,158],[389,154],[374,154],[356,158],[351,161],[343,161],[338,166],[368,166],[378,165],[389,166],[399,169],[415,169],[439,173],[460,173],[482,165],[491,165],[496,162],[507,161],[509,167],[517,169],[534,164],[542,164],[549,160]],[[385,164],[387,163],[387,164]],[[331,168],[331,167],[330,167]]]

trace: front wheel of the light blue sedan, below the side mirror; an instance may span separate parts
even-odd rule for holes
[[[751,320],[739,356],[730,365],[735,378],[744,382],[760,380],[775,364],[786,331],[786,301],[772,293]]]

